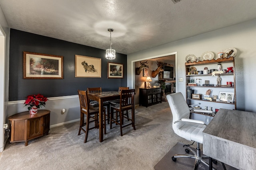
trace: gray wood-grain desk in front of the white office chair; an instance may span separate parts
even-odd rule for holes
[[[205,155],[240,170],[256,170],[256,113],[220,109],[203,139]]]

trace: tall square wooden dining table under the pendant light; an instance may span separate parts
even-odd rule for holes
[[[103,141],[103,102],[120,99],[120,92],[109,91],[109,92],[101,92],[101,93],[88,93],[88,98],[90,100],[95,100],[99,102],[99,135],[100,142]]]

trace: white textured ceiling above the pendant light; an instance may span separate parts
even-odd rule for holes
[[[0,0],[13,29],[130,54],[256,18],[256,0]]]

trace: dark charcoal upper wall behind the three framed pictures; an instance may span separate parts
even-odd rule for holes
[[[23,79],[23,51],[63,56],[64,79]],[[107,60],[105,51],[11,29],[9,101],[25,100],[26,96],[38,93],[46,97],[69,96],[88,87],[116,91],[119,86],[127,86],[127,55],[116,53],[115,60]],[[101,58],[101,78],[75,78],[75,55]],[[108,79],[108,62],[124,64],[124,78]]]

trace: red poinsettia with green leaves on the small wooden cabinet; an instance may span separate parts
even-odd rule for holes
[[[28,106],[28,110],[32,109],[33,106],[36,106],[38,109],[42,106],[45,107],[45,102],[48,100],[41,94],[29,95],[28,99],[24,102],[25,106]]]

